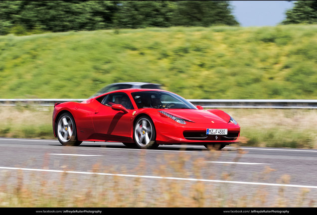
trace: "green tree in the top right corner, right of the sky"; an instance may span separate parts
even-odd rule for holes
[[[287,10],[286,16],[282,24],[316,24],[317,0],[299,0],[294,2],[294,7]]]

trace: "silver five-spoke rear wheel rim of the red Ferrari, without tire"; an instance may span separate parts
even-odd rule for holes
[[[62,142],[68,142],[73,135],[73,121],[68,115],[64,115],[58,121],[57,135]]]

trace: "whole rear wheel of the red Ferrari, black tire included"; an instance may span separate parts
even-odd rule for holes
[[[77,130],[74,117],[69,112],[62,113],[56,123],[56,136],[65,146],[79,146],[82,141],[77,139]]]

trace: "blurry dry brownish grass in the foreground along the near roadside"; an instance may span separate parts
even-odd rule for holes
[[[206,153],[209,153],[206,159],[216,160],[223,152]],[[235,161],[243,153],[239,150]],[[149,174],[145,172],[146,154],[147,151],[136,158],[140,159],[140,165],[132,170],[134,174]],[[162,159],[164,162],[160,162]],[[186,153],[163,155],[151,175],[233,179],[234,170],[217,171],[204,161]],[[190,168],[185,171],[188,165]],[[309,189],[252,185],[241,185],[237,189],[226,183],[105,176],[98,173],[128,174],[129,171],[126,166],[114,169],[100,163],[89,170],[96,174],[87,176],[67,173],[72,170],[69,168],[64,170],[62,173],[1,170],[0,207],[316,207]],[[269,178],[272,171],[264,168],[261,176]],[[206,172],[207,176],[202,176]],[[284,175],[279,182],[288,184],[289,180],[290,177]]]

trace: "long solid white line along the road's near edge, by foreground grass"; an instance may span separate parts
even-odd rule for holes
[[[199,182],[214,182],[214,183],[229,183],[229,184],[266,185],[266,186],[317,189],[317,186],[309,186],[309,185],[273,184],[273,183],[241,182],[241,181],[223,181],[223,180],[210,180],[210,179],[176,178],[176,177],[128,175],[128,174],[112,174],[112,173],[95,173],[95,172],[63,171],[63,170],[49,170],[49,169],[29,169],[29,168],[16,168],[16,167],[0,167],[0,169],[24,170],[24,171],[41,171],[41,172],[56,172],[56,173],[74,173],[74,174],[86,174],[86,175],[121,176],[121,177],[134,177],[134,178],[148,178],[148,179],[168,179],[168,180],[194,181],[194,182],[199,181]]]

